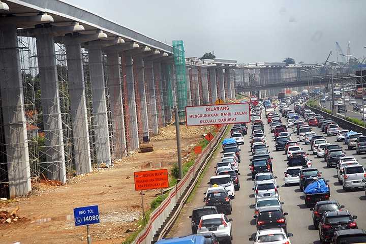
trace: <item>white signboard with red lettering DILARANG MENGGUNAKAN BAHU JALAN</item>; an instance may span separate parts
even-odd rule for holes
[[[187,126],[209,126],[250,122],[249,103],[186,107]]]

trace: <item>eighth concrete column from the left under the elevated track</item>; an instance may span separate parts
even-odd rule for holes
[[[158,113],[156,105],[156,95],[155,95],[155,80],[154,80],[154,67],[153,61],[144,60],[145,66],[145,82],[147,87],[147,93],[149,94],[149,101],[147,101],[148,107],[148,125],[151,134],[158,134]]]

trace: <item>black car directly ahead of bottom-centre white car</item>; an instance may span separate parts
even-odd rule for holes
[[[281,207],[266,207],[259,210],[257,219],[257,230],[283,228],[287,233],[287,212],[283,212]]]

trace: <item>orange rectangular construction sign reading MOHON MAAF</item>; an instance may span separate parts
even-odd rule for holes
[[[167,169],[134,172],[134,178],[136,191],[169,187]]]

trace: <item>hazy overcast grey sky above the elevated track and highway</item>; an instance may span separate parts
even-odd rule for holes
[[[184,40],[186,57],[214,50],[240,63],[337,60],[366,54],[365,0],[64,0],[168,44]],[[341,61],[341,60],[340,60]]]

